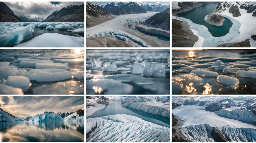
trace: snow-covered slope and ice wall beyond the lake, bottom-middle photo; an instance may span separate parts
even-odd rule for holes
[[[147,96],[128,96],[121,105],[170,118],[170,102],[156,102]]]

